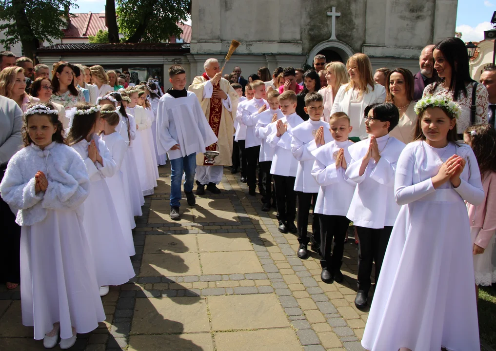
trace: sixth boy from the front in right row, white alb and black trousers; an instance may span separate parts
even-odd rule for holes
[[[253,90],[253,99],[243,106],[241,119],[243,124],[247,126],[247,136],[245,141],[245,154],[247,156],[247,180],[248,180],[248,194],[255,196],[255,183],[256,183],[256,163],[260,154],[260,139],[255,136],[255,125],[258,120],[258,115],[265,111],[269,106],[267,101],[263,99],[265,95],[265,84],[261,80],[254,80],[251,82],[251,89]],[[246,91],[246,90],[245,90]],[[258,187],[261,186],[263,179],[263,172],[259,169],[258,172]],[[263,194],[262,194],[263,195]]]

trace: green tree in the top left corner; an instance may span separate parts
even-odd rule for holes
[[[34,57],[40,42],[53,43],[63,37],[69,8],[78,6],[73,0],[0,0],[0,25],[5,39],[0,44],[11,46],[21,42],[24,55]]]

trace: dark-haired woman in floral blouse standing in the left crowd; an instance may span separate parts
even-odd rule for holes
[[[69,62],[59,62],[54,67],[54,76],[52,77],[53,95],[52,101],[63,105],[65,110],[70,110],[80,101],[84,100],[82,90],[78,89],[72,80],[74,79],[74,70]]]

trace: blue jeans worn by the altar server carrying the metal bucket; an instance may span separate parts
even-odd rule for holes
[[[196,153],[171,160],[171,207],[181,206],[181,180],[186,174],[185,191],[193,191]]]

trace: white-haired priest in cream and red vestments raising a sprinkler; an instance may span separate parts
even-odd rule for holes
[[[203,195],[205,186],[208,191],[219,194],[217,184],[222,179],[224,166],[232,166],[234,117],[238,108],[238,94],[227,79],[222,78],[219,62],[209,58],[203,64],[205,72],[193,79],[188,90],[198,98],[201,109],[212,128],[217,143],[206,148],[219,151],[214,164],[206,163],[202,154],[196,155],[196,194]]]

